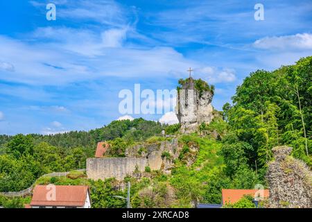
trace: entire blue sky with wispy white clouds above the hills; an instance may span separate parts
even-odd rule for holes
[[[47,3],[56,21],[46,19]],[[11,0],[0,8],[0,134],[101,127],[122,116],[121,89],[174,89],[189,67],[216,85],[221,110],[250,72],[312,56],[311,0]]]

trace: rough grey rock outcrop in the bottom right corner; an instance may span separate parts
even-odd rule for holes
[[[275,161],[269,164],[267,179],[270,207],[312,207],[312,173],[290,156],[291,147],[272,148]]]

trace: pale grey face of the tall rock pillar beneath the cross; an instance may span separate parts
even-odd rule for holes
[[[199,92],[193,78],[185,81],[177,96],[175,112],[181,123],[181,133],[193,133],[201,123],[210,123],[214,119],[213,96],[211,91]]]

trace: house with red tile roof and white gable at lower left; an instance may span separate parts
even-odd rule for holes
[[[88,186],[37,185],[31,208],[90,208]]]

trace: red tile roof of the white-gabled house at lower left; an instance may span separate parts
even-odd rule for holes
[[[51,198],[51,191],[51,187],[37,185],[33,190],[31,206],[82,207],[85,205],[89,187],[55,186],[55,200],[49,200]]]

